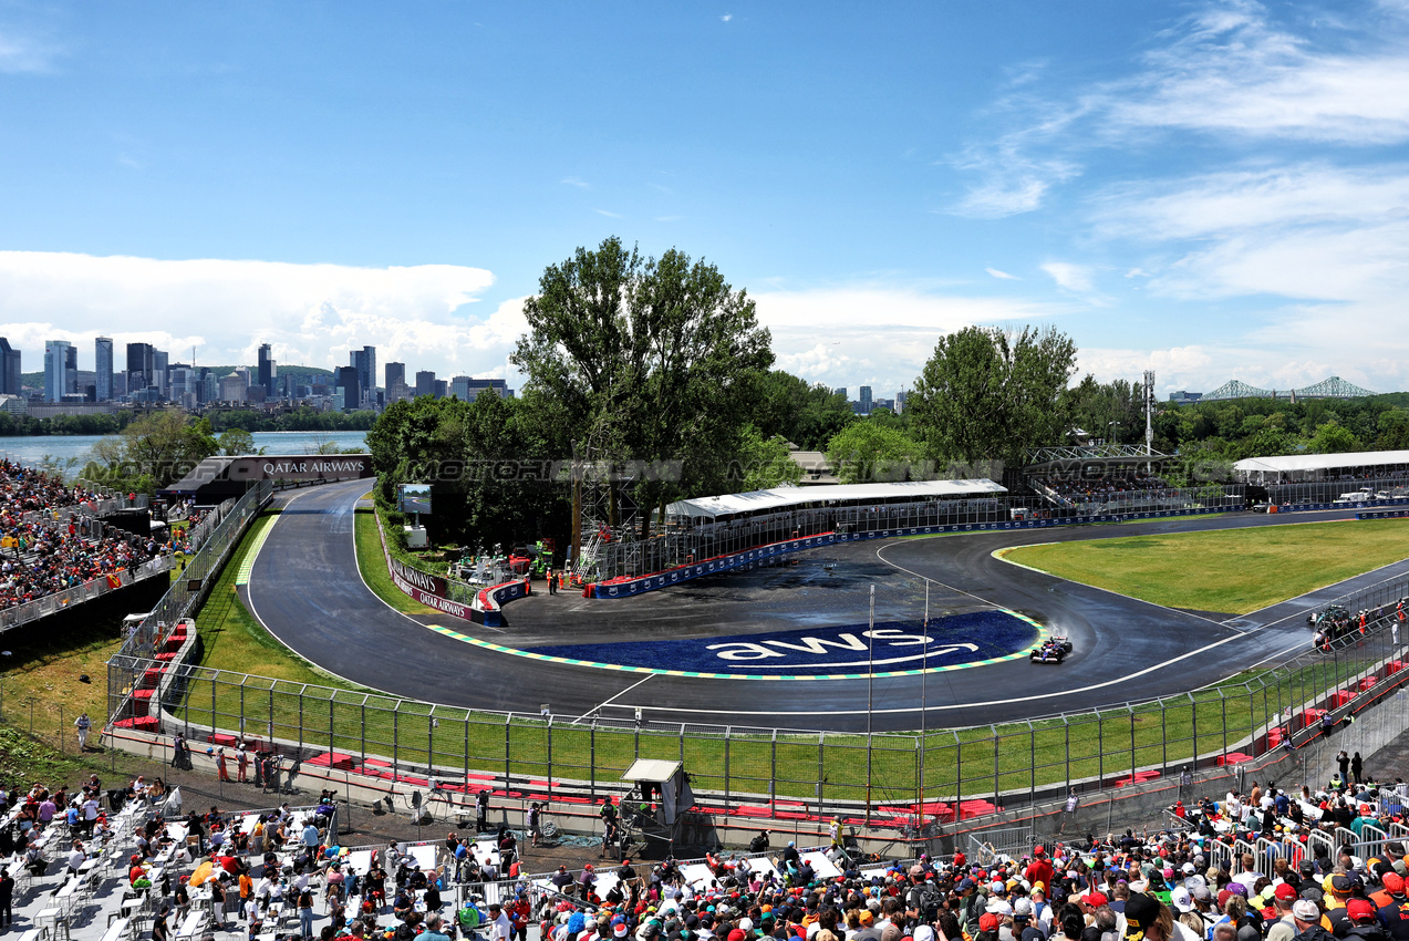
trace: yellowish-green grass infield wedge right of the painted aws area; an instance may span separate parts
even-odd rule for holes
[[[1006,549],[1058,578],[1199,611],[1247,614],[1409,556],[1401,520],[1302,523]]]

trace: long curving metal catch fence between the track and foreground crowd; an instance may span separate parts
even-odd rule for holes
[[[211,730],[300,758],[337,751],[361,773],[551,793],[568,786],[616,792],[635,758],[683,762],[709,804],[768,803],[775,810],[868,813],[913,825],[916,817],[971,818],[1078,793],[1169,778],[1184,768],[1234,765],[1305,741],[1322,710],[1333,716],[1392,694],[1405,638],[1394,602],[1409,578],[1340,599],[1381,609],[1367,632],[1240,675],[1216,687],[1006,725],[924,735],[817,733],[665,724],[599,716],[471,711],[368,692],[176,666],[154,716],[163,731],[199,741]],[[1308,631],[1310,648],[1310,631]],[[137,645],[137,649],[142,649]],[[1216,656],[1216,654],[1210,654]],[[131,654],[108,663],[110,714],[154,663]],[[1403,723],[1401,713],[1401,725]]]

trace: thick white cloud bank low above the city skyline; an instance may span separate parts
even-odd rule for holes
[[[0,335],[35,368],[45,339],[152,342],[185,361],[255,362],[261,342],[285,363],[342,366],[373,345],[380,362],[473,372],[500,366],[524,331],[521,299],[468,316],[493,275],[482,268],[351,268],[259,261],[0,252]],[[90,359],[89,359],[90,361]],[[85,366],[87,368],[87,366]]]

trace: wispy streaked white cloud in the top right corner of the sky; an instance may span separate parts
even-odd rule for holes
[[[1033,211],[1098,154],[1168,145],[1171,135],[1230,147],[1409,141],[1409,6],[1381,4],[1363,23],[1298,35],[1260,3],[1213,1],[1160,35],[1124,77],[1044,94],[1027,68],[985,114],[999,132],[948,161],[975,177],[951,211]]]

